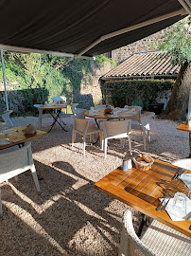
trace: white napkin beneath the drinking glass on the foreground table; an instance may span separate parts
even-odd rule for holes
[[[164,198],[160,198],[162,201]],[[167,202],[168,198],[165,198],[165,202],[163,202],[163,205]],[[168,215],[173,221],[182,221],[182,220],[191,220],[191,200],[186,196],[186,214],[185,211],[174,207],[174,198],[170,198],[165,210],[167,211]]]

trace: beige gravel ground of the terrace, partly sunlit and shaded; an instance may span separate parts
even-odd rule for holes
[[[37,118],[15,118],[15,126]],[[117,140],[109,142],[108,157],[97,146],[88,145],[82,155],[82,140],[71,147],[72,119],[65,119],[68,132],[59,126],[32,141],[33,158],[42,194],[36,192],[30,172],[1,184],[4,216],[0,220],[0,255],[59,256],[117,255],[121,217],[129,207],[96,191],[94,183],[109,174],[128,152]],[[48,130],[51,119],[43,119]],[[178,123],[151,121],[148,153],[167,162],[188,156],[188,135],[177,131]],[[133,133],[132,148],[143,151],[143,138]],[[130,209],[130,208],[129,208]],[[135,229],[140,213],[133,212]]]

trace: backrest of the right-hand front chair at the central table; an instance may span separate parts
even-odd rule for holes
[[[103,121],[104,137],[113,137],[122,134],[129,134],[131,130],[131,120],[111,120]]]

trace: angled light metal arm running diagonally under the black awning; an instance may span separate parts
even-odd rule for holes
[[[178,15],[184,15],[184,14],[186,14],[185,9],[179,9],[179,10],[173,11],[173,12],[171,12],[171,13],[167,13],[167,14],[165,14],[165,15],[162,15],[162,16],[160,16],[160,17],[157,17],[157,18],[148,20],[148,21],[146,21],[146,22],[142,22],[142,23],[139,23],[139,24],[136,24],[136,25],[133,25],[133,26],[130,26],[130,27],[126,27],[126,28],[123,28],[123,29],[114,31],[114,32],[112,32],[112,33],[103,35],[103,36],[99,37],[99,38],[98,38],[94,43],[92,43],[90,46],[86,47],[84,50],[82,50],[81,52],[79,52],[78,55],[76,56],[76,58],[80,57],[80,56],[81,56],[82,54],[84,54],[86,51],[88,51],[89,49],[93,48],[94,46],[98,45],[100,42],[102,42],[102,41],[104,41],[104,40],[106,40],[106,39],[110,39],[110,38],[112,38],[112,37],[114,37],[114,36],[127,33],[127,32],[129,32],[129,31],[131,31],[131,30],[134,30],[134,29],[137,29],[137,28],[140,28],[140,27],[145,27],[145,26],[148,26],[148,25],[151,25],[151,24],[154,24],[154,23],[157,23],[157,22],[160,22],[160,21],[163,21],[163,20],[166,20],[166,19],[169,19],[169,18],[178,16]]]

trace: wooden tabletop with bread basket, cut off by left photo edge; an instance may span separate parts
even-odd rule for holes
[[[3,136],[3,137],[8,138],[9,143],[5,144],[5,145],[0,145],[0,150],[9,148],[9,147],[15,146],[15,145],[21,145],[21,144],[25,143],[26,141],[47,135],[46,132],[43,132],[40,130],[37,130],[37,132],[34,135],[26,135],[23,132],[23,130],[25,128],[26,128],[25,126],[12,127],[12,128],[10,128],[10,130],[15,130],[14,133],[5,134],[5,135],[3,135],[1,133],[1,137]]]

